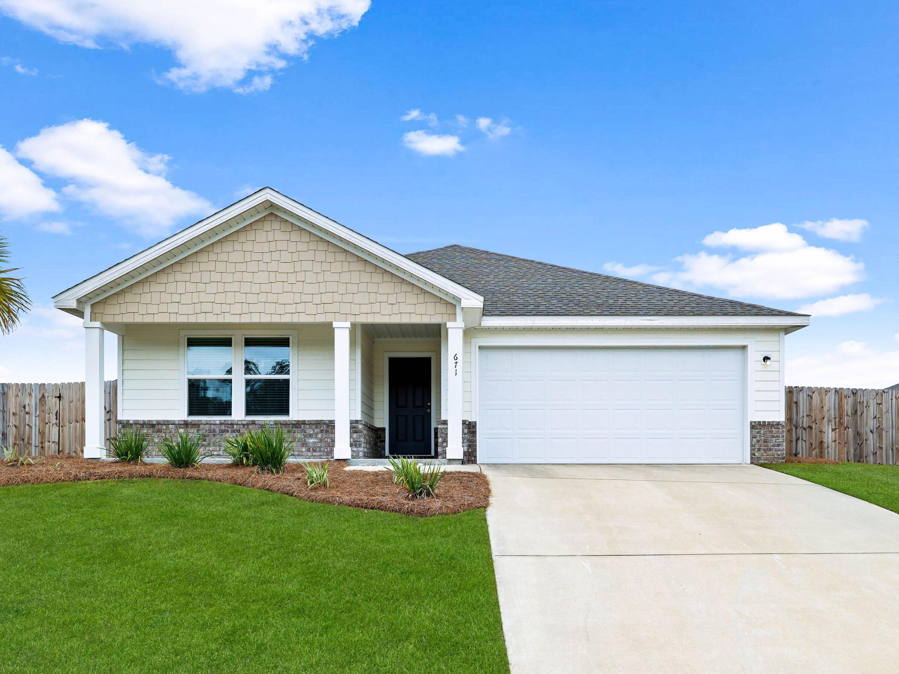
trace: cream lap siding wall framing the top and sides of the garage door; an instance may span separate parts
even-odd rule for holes
[[[471,341],[475,338],[491,337],[532,337],[543,339],[559,338],[560,344],[564,339],[608,337],[621,340],[616,346],[627,346],[628,340],[719,340],[739,339],[752,341],[755,350],[754,370],[755,385],[751,392],[750,401],[751,421],[783,421],[783,409],[781,407],[782,393],[780,388],[780,333],[779,331],[761,330],[709,330],[709,329],[608,329],[608,328],[473,328],[465,331],[463,350],[465,380],[463,385],[464,407],[463,417],[472,418],[472,351]],[[482,342],[484,343],[484,342]],[[769,365],[761,364],[761,357],[771,357]],[[753,411],[754,410],[754,411]]]

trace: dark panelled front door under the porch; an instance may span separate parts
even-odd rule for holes
[[[389,452],[392,455],[432,456],[431,359],[391,358]]]

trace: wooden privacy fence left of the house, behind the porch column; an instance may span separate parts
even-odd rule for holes
[[[105,438],[115,435],[116,384],[113,379],[104,388]],[[0,447],[40,457],[81,454],[85,448],[85,383],[0,384]]]

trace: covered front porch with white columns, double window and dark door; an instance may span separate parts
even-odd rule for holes
[[[463,421],[462,323],[85,321],[85,457],[103,445],[104,334],[117,335],[118,427],[223,441],[278,423],[295,457],[475,462]]]

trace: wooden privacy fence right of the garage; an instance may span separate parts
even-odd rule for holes
[[[899,391],[787,386],[787,456],[895,466]]]

